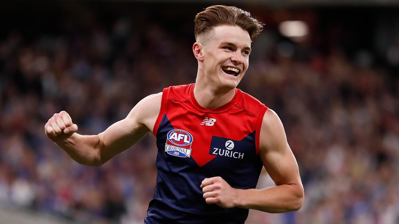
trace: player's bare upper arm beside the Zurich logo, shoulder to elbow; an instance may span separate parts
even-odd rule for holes
[[[276,185],[301,185],[298,163],[288,145],[280,118],[268,109],[260,134],[260,156]]]

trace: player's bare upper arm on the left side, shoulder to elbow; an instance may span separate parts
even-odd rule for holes
[[[160,110],[161,98],[162,93],[147,96],[134,106],[126,118],[99,134],[103,163],[134,145],[152,130]]]

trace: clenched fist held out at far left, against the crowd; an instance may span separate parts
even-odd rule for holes
[[[44,125],[46,136],[52,141],[67,139],[77,131],[77,125],[72,123],[71,116],[65,111],[54,114]]]

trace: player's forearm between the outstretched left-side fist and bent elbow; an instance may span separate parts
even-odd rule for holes
[[[82,136],[74,133],[71,137],[56,141],[73,160],[81,165],[101,165],[99,136]]]

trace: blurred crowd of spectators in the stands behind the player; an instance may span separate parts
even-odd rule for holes
[[[148,94],[195,81],[194,37],[126,18],[109,24],[71,22],[30,41],[16,28],[0,39],[0,205],[79,223],[143,222],[156,181],[154,136],[85,167],[44,134],[61,110],[80,134],[98,134]],[[251,211],[247,223],[399,223],[399,41],[385,67],[371,51],[348,59],[336,45],[321,54],[267,28],[252,48],[239,88],[279,114],[305,201],[297,212]],[[263,171],[258,187],[273,184]]]

